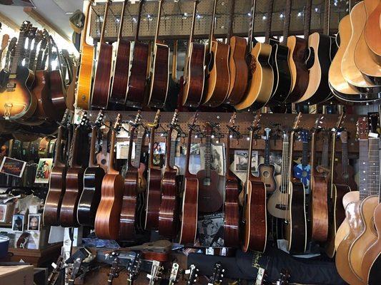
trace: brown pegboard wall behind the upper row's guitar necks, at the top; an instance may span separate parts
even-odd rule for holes
[[[226,37],[230,13],[231,0],[218,0],[217,16],[215,23],[215,36]],[[292,1],[292,14],[290,21],[290,35],[303,34],[305,0]],[[213,0],[202,0],[197,6],[197,21],[194,27],[195,38],[207,38],[209,36],[210,21],[212,21]],[[325,0],[312,1],[311,31],[322,31],[324,22]],[[193,13],[192,0],[167,0],[164,1],[162,19],[160,24],[159,38],[188,38],[192,24]],[[340,19],[347,14],[347,1],[330,1],[330,33],[337,31]],[[252,11],[252,0],[236,0],[234,8],[234,34],[247,36]],[[119,20],[122,12],[122,3],[115,2],[109,6],[105,36],[107,41],[114,41],[119,31]],[[146,1],[142,9],[142,21],[139,37],[151,39],[154,37],[159,2],[157,0]],[[267,0],[257,0],[255,14],[254,33],[256,36],[264,36],[266,26],[268,4]],[[272,16],[272,35],[281,36],[284,25],[284,0],[274,0]],[[123,25],[123,37],[133,39],[137,27],[137,14],[139,1],[127,4]],[[91,37],[96,40],[100,37],[104,16],[104,3],[97,1],[91,11]]]

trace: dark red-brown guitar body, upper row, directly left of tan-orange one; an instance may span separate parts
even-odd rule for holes
[[[184,83],[182,105],[197,107],[204,93],[205,45],[203,43],[191,43],[189,54],[188,75],[187,81]]]

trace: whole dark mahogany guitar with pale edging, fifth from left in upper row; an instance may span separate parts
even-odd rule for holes
[[[156,33],[154,38],[154,53],[152,61],[151,86],[148,105],[152,108],[163,108],[167,100],[169,84],[169,46],[158,41],[160,18],[164,0],[159,0],[157,12]]]

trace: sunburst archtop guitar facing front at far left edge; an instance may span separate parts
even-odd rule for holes
[[[34,83],[34,73],[21,64],[24,59],[25,36],[29,28],[31,24],[24,21],[20,28],[9,79],[0,88],[0,115],[6,119],[27,119],[36,110],[36,97],[29,91]]]

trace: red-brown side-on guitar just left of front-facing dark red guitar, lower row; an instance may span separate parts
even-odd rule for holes
[[[192,124],[189,124],[187,141],[187,158],[185,161],[184,186],[182,193],[182,214],[180,225],[180,244],[194,244],[197,234],[197,214],[199,180],[197,176],[189,172],[189,160],[192,145],[192,133],[197,120],[197,113],[194,115]]]

